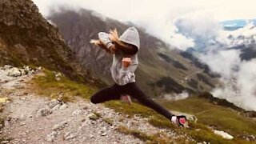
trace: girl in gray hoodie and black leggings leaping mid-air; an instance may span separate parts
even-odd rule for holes
[[[135,27],[130,27],[119,38],[115,29],[110,30],[110,34],[98,33],[98,38],[99,40],[91,40],[90,42],[113,54],[113,63],[110,70],[115,84],[98,91],[90,98],[90,101],[96,104],[122,99],[131,103],[131,96],[138,99],[143,105],[170,119],[174,124],[184,126],[186,123],[185,116],[171,114],[169,110],[147,97],[135,83],[134,71],[138,66],[138,50],[140,48],[138,30]]]

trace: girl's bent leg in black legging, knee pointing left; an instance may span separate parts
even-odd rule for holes
[[[96,103],[106,102],[114,99],[119,99],[121,95],[119,91],[120,90],[117,89],[116,85],[99,90],[96,94],[94,94],[90,98],[90,102],[93,102],[96,104]]]

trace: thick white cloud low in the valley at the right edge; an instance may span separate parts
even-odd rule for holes
[[[256,110],[256,59],[243,61],[234,78],[222,76],[222,86],[212,91],[215,97],[226,98],[246,110]]]

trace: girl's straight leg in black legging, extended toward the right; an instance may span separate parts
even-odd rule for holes
[[[170,119],[173,115],[170,113],[169,110],[166,110],[163,106],[159,105],[157,102],[154,102],[151,98],[147,97],[146,94],[144,94],[143,91],[140,90],[135,83],[129,86],[129,89],[126,93],[130,94],[130,96],[138,99],[138,101],[141,102],[143,105],[150,107],[151,109],[155,110],[159,114],[162,114],[168,119]]]

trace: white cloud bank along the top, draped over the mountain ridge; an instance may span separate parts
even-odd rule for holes
[[[208,27],[215,29],[215,23],[223,19],[256,18],[254,0],[238,1],[205,1],[205,0],[33,0],[43,15],[50,14],[50,9],[58,6],[69,6],[74,10],[86,8],[95,10],[107,17],[122,22],[133,22],[145,28],[146,32],[179,49],[194,46],[194,38],[178,32],[182,26],[190,24],[192,34],[213,34]],[[232,6],[230,6],[232,3]],[[202,15],[205,14],[205,15]],[[186,20],[186,18],[190,18]],[[194,18],[194,19],[193,19]],[[212,18],[215,18],[214,20]],[[179,21],[176,21],[179,20]],[[182,20],[182,21],[181,21]],[[201,22],[198,22],[200,20]],[[176,21],[176,23],[175,23]],[[178,23],[179,24],[178,24]],[[182,22],[182,23],[181,23]],[[190,23],[194,22],[194,23]],[[178,25],[177,25],[178,24]],[[187,30],[186,30],[187,31]],[[191,35],[190,35],[191,36]]]

